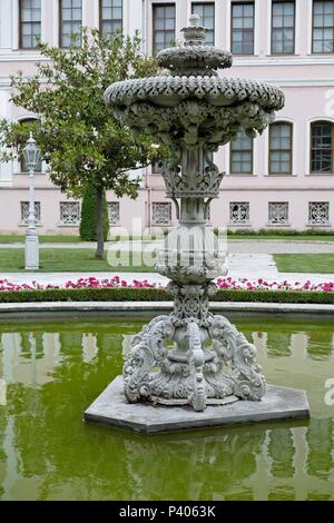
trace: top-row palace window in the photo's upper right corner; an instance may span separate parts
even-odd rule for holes
[[[334,1],[314,0],[312,52],[334,52]]]

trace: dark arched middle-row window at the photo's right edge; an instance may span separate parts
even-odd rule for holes
[[[333,124],[311,125],[311,172],[333,172]]]

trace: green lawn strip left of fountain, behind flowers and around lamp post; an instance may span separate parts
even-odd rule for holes
[[[136,256],[137,257],[137,256]],[[132,259],[127,266],[111,267],[107,263],[107,254],[105,259],[95,259],[94,249],[40,249],[40,272],[45,273],[94,273],[94,272],[115,272],[115,273],[153,273],[154,266],[136,266],[131,265]],[[24,249],[0,249],[0,274],[1,273],[20,273],[24,272]]]

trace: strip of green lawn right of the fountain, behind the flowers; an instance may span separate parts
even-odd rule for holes
[[[279,273],[334,274],[334,254],[275,254]]]

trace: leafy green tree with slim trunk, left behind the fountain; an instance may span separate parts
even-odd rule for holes
[[[39,43],[46,60],[37,73],[11,78],[12,101],[39,116],[35,138],[48,165],[50,178],[69,196],[80,198],[94,187],[97,200],[97,251],[104,256],[104,194],[136,198],[139,179],[128,170],[150,164],[156,148],[147,136],[135,137],[120,127],[104,102],[106,88],[120,80],[156,73],[156,61],[140,52],[138,33],[112,38],[84,28],[82,46],[72,39],[63,50]],[[2,160],[21,156],[31,127],[0,121]]]

